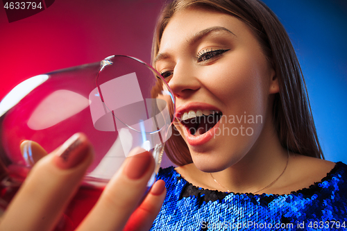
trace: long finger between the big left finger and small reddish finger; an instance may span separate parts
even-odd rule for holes
[[[134,153],[139,153],[134,155]],[[112,177],[101,197],[78,230],[122,230],[147,189],[154,170],[151,153],[142,148],[131,151],[121,169]]]

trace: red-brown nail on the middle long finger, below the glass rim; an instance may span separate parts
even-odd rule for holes
[[[151,153],[142,148],[136,149],[135,152],[139,154],[128,157],[130,160],[124,168],[126,176],[133,180],[137,180],[144,176],[144,173],[149,169],[153,159]]]

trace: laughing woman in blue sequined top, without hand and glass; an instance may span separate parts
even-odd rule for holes
[[[170,3],[153,67],[176,98],[167,154],[178,167],[160,171],[152,230],[347,226],[347,166],[322,160],[294,49],[264,3]]]

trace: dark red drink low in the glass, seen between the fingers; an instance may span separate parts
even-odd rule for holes
[[[14,183],[11,186],[0,185],[0,207],[6,209],[13,196],[17,193],[20,187],[19,183]],[[90,212],[92,207],[99,200],[103,188],[80,187],[71,203],[69,203],[62,218],[56,225],[55,231],[73,231],[83,221],[85,216]]]

